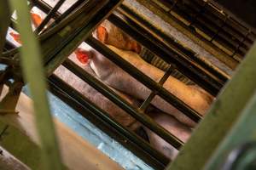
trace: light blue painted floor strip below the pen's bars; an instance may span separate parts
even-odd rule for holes
[[[23,92],[29,96],[27,87]],[[61,99],[48,92],[50,109],[52,114],[60,121],[73,129],[79,136],[89,141],[99,150],[102,150],[107,156],[118,162],[127,170],[153,170],[146,163],[133,155],[131,151],[126,150],[121,144],[110,138],[83,116],[79,115],[70,106],[66,105]]]

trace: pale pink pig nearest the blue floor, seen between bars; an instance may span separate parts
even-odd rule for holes
[[[82,66],[84,71],[90,73],[90,75],[98,78],[96,73],[90,68],[90,65],[81,65],[77,59],[71,56],[71,59],[75,61],[78,65]],[[91,88],[86,82],[83,82],[73,75],[71,71],[68,71],[64,66],[60,66],[55,70],[55,75],[60,77],[63,81],[67,82],[73,88],[78,90],[86,98],[90,99],[93,103],[98,105],[102,110],[107,111],[110,116],[113,117],[117,122],[121,123],[125,127],[129,127],[132,131],[142,126],[140,123],[136,122],[134,118],[129,116],[125,111],[121,110],[117,105],[114,105],[113,102],[105,98],[102,94],[96,91],[96,89]],[[113,88],[112,88],[113,89]],[[139,102],[137,99],[133,99],[130,96],[119,92],[118,90],[113,89],[117,94],[119,94],[123,99],[128,101],[131,105],[137,107]],[[183,126],[180,122],[177,122],[172,116],[168,116],[154,107],[150,107],[149,110],[151,116],[155,122],[159,123],[162,127],[165,127],[167,131],[175,134],[178,139],[186,140],[189,136],[189,127]],[[157,111],[157,112],[156,112]],[[148,130],[147,127],[143,127],[147,134],[150,144],[156,149],[162,152],[164,155],[173,159],[177,156],[178,150],[176,150],[171,144],[167,144],[163,139],[161,139],[155,133],[152,133]]]

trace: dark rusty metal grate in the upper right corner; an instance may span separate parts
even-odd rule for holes
[[[213,3],[202,0],[150,2],[239,62],[256,38],[255,32],[242,26]]]

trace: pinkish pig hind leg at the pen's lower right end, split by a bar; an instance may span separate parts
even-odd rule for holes
[[[152,116],[155,122],[166,128],[167,131],[177,136],[177,138],[181,139],[183,142],[186,142],[189,139],[191,129],[184,126],[181,122],[178,122],[173,116],[160,112],[151,113],[150,116]],[[146,130],[149,142],[154,149],[159,150],[171,160],[177,156],[178,150],[175,149],[171,144],[166,143],[164,139],[161,139],[157,134],[153,133],[147,127],[144,127],[144,129]]]

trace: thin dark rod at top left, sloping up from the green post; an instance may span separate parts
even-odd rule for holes
[[[55,4],[55,7],[52,8],[49,13],[47,14],[47,16],[44,18],[44,20],[42,21],[42,23],[38,26],[38,28],[36,28],[36,30],[34,31],[36,34],[40,33],[40,31],[42,31],[44,29],[44,26],[47,25],[47,23],[49,22],[50,19],[53,18],[53,15],[58,11],[59,8],[61,8],[61,5],[63,3],[65,3],[66,0],[59,0],[58,3]]]

